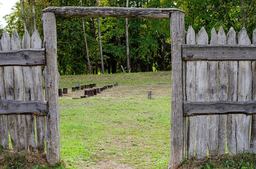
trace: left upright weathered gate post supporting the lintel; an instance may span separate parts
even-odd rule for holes
[[[43,13],[44,48],[46,55],[45,99],[47,102],[46,117],[46,159],[50,165],[60,162],[60,109],[58,101],[58,65],[57,65],[57,32],[56,18],[53,12]]]

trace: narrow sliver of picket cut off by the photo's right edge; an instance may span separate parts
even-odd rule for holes
[[[256,29],[252,34],[252,44],[256,45]],[[256,61],[252,61],[252,100],[256,100]],[[252,115],[252,132],[251,132],[251,153],[256,153],[256,115]]]

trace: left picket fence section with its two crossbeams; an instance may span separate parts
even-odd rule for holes
[[[22,40],[14,30],[11,37],[3,32],[0,44],[0,145],[9,149],[9,132],[13,150],[43,153],[47,102],[38,66],[45,65],[42,40],[37,30],[31,37],[26,31]]]

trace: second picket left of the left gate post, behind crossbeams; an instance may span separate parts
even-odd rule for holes
[[[29,36],[28,31],[25,31],[22,37],[21,48],[30,48],[31,38]],[[23,66],[23,79],[25,86],[25,99],[26,101],[34,101],[34,88],[33,88],[33,80],[32,77],[32,69],[31,66]],[[29,151],[36,152],[36,137],[35,137],[35,117],[33,114],[26,114],[26,127],[27,127],[27,145],[29,147]]]

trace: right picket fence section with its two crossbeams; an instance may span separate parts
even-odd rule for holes
[[[196,40],[195,40],[196,37]],[[187,158],[256,153],[256,30],[253,43],[245,28],[204,27],[186,33],[182,59],[186,61],[184,116],[187,116]],[[253,45],[252,45],[253,44]],[[247,108],[245,108],[248,105]]]

